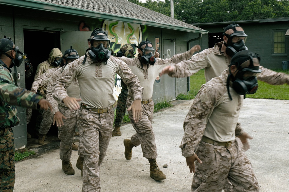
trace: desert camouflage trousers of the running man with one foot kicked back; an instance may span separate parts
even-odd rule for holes
[[[127,98],[127,107],[129,108],[134,101],[131,97]],[[142,146],[142,154],[147,159],[156,159],[157,146],[155,145],[155,134],[151,122],[153,120],[153,100],[142,105],[142,118],[135,123],[132,117],[132,111],[128,111],[131,124],[136,130],[136,134],[131,136],[131,143],[134,146]]]

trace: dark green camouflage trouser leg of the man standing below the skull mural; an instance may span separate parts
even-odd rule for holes
[[[125,115],[125,109],[126,109],[126,100],[127,100],[127,86],[122,83],[121,81],[121,93],[118,95],[117,99],[117,106],[116,106],[116,115],[115,115],[115,121],[114,126],[120,127],[123,123],[123,116]]]

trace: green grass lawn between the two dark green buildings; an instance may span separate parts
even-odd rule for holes
[[[272,69],[276,72],[282,72],[289,74],[289,70],[282,69]],[[190,100],[193,99],[201,86],[206,83],[205,70],[202,69],[198,73],[195,73],[190,77],[190,91],[187,95],[180,94],[177,96],[177,100]],[[289,100],[289,86],[285,85],[270,85],[268,83],[264,83],[262,81],[258,81],[258,90],[255,94],[246,95],[246,98],[257,98],[257,99],[278,99],[278,100]]]

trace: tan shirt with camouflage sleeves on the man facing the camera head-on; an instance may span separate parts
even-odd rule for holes
[[[107,64],[96,63],[90,59],[88,52],[86,53],[86,62],[82,64],[84,58],[85,56],[82,56],[66,65],[53,87],[52,95],[56,100],[62,101],[68,96],[66,88],[77,78],[81,102],[92,108],[105,109],[115,102],[113,88],[116,73],[132,90],[134,99],[141,99],[143,88],[127,64],[114,56],[110,56]]]

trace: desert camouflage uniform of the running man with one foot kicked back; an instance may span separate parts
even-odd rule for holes
[[[148,103],[142,103],[142,118],[139,119],[138,123],[134,123],[132,119],[132,112],[129,111],[129,118],[131,119],[132,126],[136,130],[136,134],[131,137],[131,143],[134,146],[141,145],[143,157],[147,159],[156,159],[158,154],[155,145],[155,135],[153,132],[153,127],[151,125],[153,108],[154,104],[151,100],[153,94],[153,83],[155,78],[159,75],[162,69],[171,64],[178,63],[182,60],[190,59],[192,55],[190,51],[176,54],[171,58],[160,59],[156,58],[157,61],[154,65],[148,65],[147,73],[144,72],[144,69],[141,67],[141,62],[139,58],[126,58],[121,57],[120,60],[123,60],[131,69],[131,71],[138,76],[141,85],[144,87],[144,93],[142,95],[142,101],[148,101]],[[131,98],[131,92],[129,90],[127,98],[127,107],[131,106],[133,99]]]

